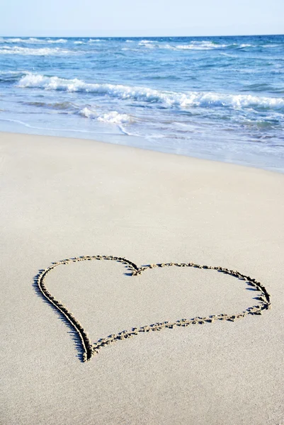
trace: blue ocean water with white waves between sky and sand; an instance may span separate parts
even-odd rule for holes
[[[284,172],[284,35],[0,38],[0,130]]]

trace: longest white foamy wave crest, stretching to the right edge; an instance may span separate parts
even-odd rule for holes
[[[62,79],[27,74],[18,82],[18,87],[36,87],[45,90],[81,91],[111,98],[134,99],[149,103],[162,103],[164,107],[187,108],[190,106],[229,108],[284,108],[284,98],[259,97],[244,94],[220,94],[215,92],[159,91],[147,87],[131,87],[114,84],[91,84],[79,79]]]

